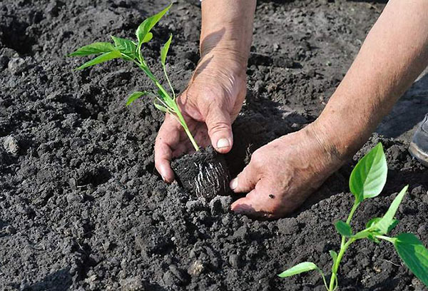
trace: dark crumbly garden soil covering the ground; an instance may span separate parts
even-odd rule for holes
[[[210,1],[210,0],[206,0]],[[178,91],[198,62],[199,1],[174,1],[154,29],[146,58],[174,34],[168,71]],[[409,183],[393,234],[428,244],[428,171],[407,151],[428,111],[422,76],[354,160],[289,218],[255,221],[230,213],[235,197],[198,200],[166,185],[153,163],[163,114],[143,99],[151,83],[131,63],[72,71],[66,53],[109,35],[133,37],[168,1],[0,1],[1,290],[322,290],[311,272],[275,276],[310,260],[329,274],[332,226],[352,205],[347,179],[382,141],[384,194],[363,203],[354,227],[382,215]],[[313,121],[352,63],[384,4],[258,1],[248,97],[235,123],[230,175],[264,143]],[[394,126],[394,124],[396,126]],[[340,290],[426,290],[386,242],[360,241],[340,269]]]

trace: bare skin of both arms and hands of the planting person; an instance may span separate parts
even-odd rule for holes
[[[230,124],[245,98],[254,6],[252,0],[203,1],[201,61],[180,97],[198,142],[211,142],[220,153],[233,144]],[[319,118],[256,150],[230,182],[235,193],[248,193],[233,203],[233,211],[283,217],[352,158],[428,66],[427,13],[426,0],[389,1]],[[219,29],[227,32],[213,41]],[[203,72],[196,73],[207,59]],[[221,138],[228,140],[225,147],[217,146]],[[183,130],[167,116],[155,146],[156,168],[165,181],[173,180],[169,160],[189,149]]]

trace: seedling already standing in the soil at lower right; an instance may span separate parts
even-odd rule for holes
[[[398,223],[398,220],[394,219],[394,215],[397,212],[399,204],[402,202],[408,185],[399,192],[389,206],[387,213],[385,213],[382,218],[372,218],[368,221],[365,230],[361,230],[358,233],[354,233],[351,228],[350,222],[352,220],[352,215],[354,215],[360,203],[367,198],[374,198],[382,192],[387,181],[387,170],[387,160],[384,155],[382,143],[378,143],[377,146],[370,150],[370,153],[367,153],[367,155],[357,163],[354,170],[352,170],[350,176],[350,190],[355,196],[355,202],[346,222],[339,220],[335,223],[337,232],[342,235],[342,241],[340,242],[339,253],[330,250],[333,265],[329,285],[327,285],[322,270],[313,262],[301,262],[285,270],[278,276],[290,277],[302,272],[317,270],[317,272],[320,272],[327,291],[336,290],[338,287],[337,270],[339,270],[340,261],[345,251],[356,240],[367,238],[376,243],[379,243],[380,240],[391,242],[404,264],[409,267],[413,274],[418,277],[424,285],[428,286],[428,250],[424,247],[422,242],[411,233],[402,233],[394,238],[386,236]]]

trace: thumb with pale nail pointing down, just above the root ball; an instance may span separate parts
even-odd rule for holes
[[[210,108],[205,118],[211,144],[219,153],[228,153],[233,145],[233,133],[228,111]]]

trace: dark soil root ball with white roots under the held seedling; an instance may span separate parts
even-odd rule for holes
[[[211,146],[173,160],[171,168],[178,184],[198,198],[210,201],[230,193],[228,165]]]

